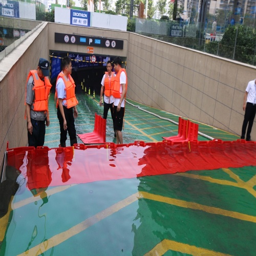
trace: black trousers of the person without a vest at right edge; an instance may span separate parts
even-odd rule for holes
[[[242,126],[241,139],[245,138],[245,134],[246,134],[246,140],[251,139],[251,129],[252,129],[252,124],[254,121],[255,114],[256,114],[256,104],[247,102],[246,108],[245,108],[245,114],[244,114],[244,122]],[[248,124],[248,127],[247,127],[247,124]],[[247,127],[247,133],[246,133],[246,127]]]

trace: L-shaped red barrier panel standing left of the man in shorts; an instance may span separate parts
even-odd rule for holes
[[[91,133],[78,134],[84,144],[99,144],[106,142],[106,119],[95,113],[94,130]]]

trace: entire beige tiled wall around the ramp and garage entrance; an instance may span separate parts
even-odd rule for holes
[[[54,43],[54,32],[124,40],[124,49],[95,48],[95,54],[127,56],[127,98],[183,117],[241,133],[245,88],[256,68],[170,45],[134,33],[42,23],[0,61],[0,162],[9,148],[27,145],[24,119],[25,83],[29,70],[49,50],[86,52],[86,47]],[[256,140],[256,120],[252,139]]]

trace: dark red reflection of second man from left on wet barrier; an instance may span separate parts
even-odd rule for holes
[[[67,182],[71,177],[68,166],[71,165],[73,159],[73,147],[59,147],[56,148],[55,160],[58,164],[58,169],[62,169],[62,182]]]

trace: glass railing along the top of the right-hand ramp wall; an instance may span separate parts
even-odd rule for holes
[[[211,33],[210,23],[196,25],[138,18],[132,22],[135,23],[135,33],[249,65],[256,65],[254,23],[253,26],[236,24],[218,27],[217,34],[214,35]]]

